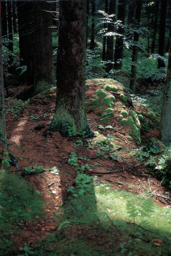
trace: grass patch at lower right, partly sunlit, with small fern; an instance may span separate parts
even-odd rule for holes
[[[155,205],[149,195],[93,184],[87,184],[89,191],[82,196],[68,195],[56,213],[57,231],[42,241],[35,255],[170,255],[170,209]],[[138,211],[134,220],[129,209]]]

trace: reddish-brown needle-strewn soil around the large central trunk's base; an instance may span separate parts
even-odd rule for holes
[[[94,92],[98,89],[96,83],[89,81],[90,88],[87,90],[87,95],[93,97]],[[21,88],[11,87],[13,95],[15,96]],[[23,90],[23,88],[22,88]],[[6,132],[8,143],[10,143],[10,150],[13,156],[18,159],[18,166],[20,171],[15,167],[11,168],[12,172],[22,173],[24,168],[29,165],[44,166],[49,169],[50,166],[56,166],[60,170],[59,175],[51,172],[44,172],[41,175],[26,175],[26,179],[35,190],[41,192],[41,196],[45,201],[45,218],[39,218],[38,222],[27,221],[26,226],[22,228],[19,236],[12,235],[13,241],[19,246],[27,246],[38,243],[47,234],[56,230],[57,226],[54,222],[54,212],[60,211],[60,204],[63,204],[63,199],[66,196],[66,189],[75,183],[75,169],[67,163],[67,159],[71,152],[78,153],[79,157],[87,157],[91,159],[91,165],[98,162],[100,165],[92,168],[87,172],[88,175],[98,176],[98,180],[103,180],[111,184],[114,189],[124,189],[132,193],[142,193],[149,191],[149,189],[156,195],[165,195],[167,191],[160,185],[160,181],[155,177],[149,176],[147,168],[140,162],[136,162],[130,156],[128,149],[137,147],[136,141],[129,141],[127,139],[128,131],[121,125],[119,120],[119,104],[115,104],[115,115],[112,117],[112,122],[101,122],[101,116],[98,111],[90,111],[87,108],[87,118],[89,118],[89,125],[93,131],[100,132],[100,136],[94,137],[96,141],[98,138],[107,136],[107,134],[114,134],[115,142],[118,152],[121,152],[122,157],[118,161],[112,161],[109,157],[105,159],[103,156],[96,156],[95,148],[87,148],[84,146],[75,147],[75,140],[79,138],[63,138],[59,132],[48,131],[48,124],[55,110],[55,96],[56,93],[52,89],[50,96],[47,93],[41,93],[30,101],[22,113],[17,117],[12,117],[10,112],[6,115]],[[117,95],[115,95],[117,96]],[[8,104],[11,100],[8,100]],[[116,97],[116,102],[119,98]],[[128,109],[128,108],[127,108]],[[122,110],[122,109],[121,109]],[[31,118],[32,116],[32,118]],[[38,118],[37,118],[38,116]],[[37,119],[36,119],[37,118]],[[31,120],[32,119],[32,120]],[[98,125],[112,125],[113,130],[98,129]],[[40,125],[38,127],[38,125]],[[158,130],[154,129],[142,138],[142,141],[147,138],[158,137]],[[86,139],[83,139],[86,143]],[[21,159],[22,157],[22,159]],[[21,160],[20,160],[20,159]],[[86,163],[85,160],[80,159],[79,164]],[[91,173],[92,172],[92,173]],[[105,174],[105,172],[112,172]],[[104,174],[103,174],[104,173]],[[169,197],[169,194],[167,195]],[[154,196],[154,201],[162,207],[168,207],[168,202],[165,198]]]

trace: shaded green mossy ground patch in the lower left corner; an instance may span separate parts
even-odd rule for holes
[[[43,202],[19,175],[0,172],[0,255],[10,255],[13,243],[9,235],[14,223],[25,223],[43,214]]]

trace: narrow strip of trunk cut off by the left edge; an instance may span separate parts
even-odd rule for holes
[[[1,27],[1,1],[0,1],[0,143],[6,141],[5,115],[4,115],[4,81],[3,81],[3,51]]]

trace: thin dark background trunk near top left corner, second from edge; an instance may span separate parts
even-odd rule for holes
[[[11,1],[7,1],[7,12],[8,12],[8,39],[10,40],[8,44],[9,50],[13,53],[13,27],[12,27],[12,10],[11,10]],[[10,68],[8,71],[12,71],[13,65],[13,56],[10,55]]]

